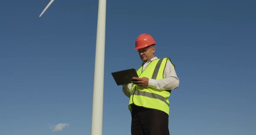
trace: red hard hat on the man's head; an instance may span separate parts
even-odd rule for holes
[[[149,34],[141,34],[138,36],[138,38],[135,41],[135,50],[147,47],[149,45],[156,45],[156,42],[154,41],[153,37]]]

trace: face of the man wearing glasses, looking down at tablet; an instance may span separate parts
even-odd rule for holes
[[[151,58],[154,58],[154,45],[138,49],[138,54],[140,55],[140,58],[143,62],[147,62],[151,60]]]

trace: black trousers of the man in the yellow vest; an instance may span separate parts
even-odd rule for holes
[[[163,111],[133,105],[131,118],[131,135],[170,135]]]

